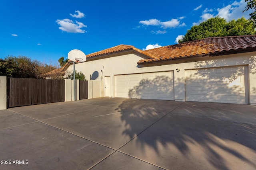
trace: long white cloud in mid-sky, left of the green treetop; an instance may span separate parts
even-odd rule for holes
[[[175,28],[175,27],[182,27],[186,25],[185,23],[180,24],[180,20],[184,19],[185,17],[179,17],[178,19],[171,19],[169,21],[161,22],[160,20],[157,19],[150,19],[150,20],[144,20],[140,21],[141,24],[143,25],[152,25],[152,26],[160,26],[164,29],[166,28]]]

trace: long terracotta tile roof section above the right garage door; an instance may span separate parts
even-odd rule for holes
[[[206,39],[146,50],[145,52],[154,56],[153,59],[142,59],[138,61],[138,64],[166,61],[183,57],[211,55],[254,47],[256,47],[256,35],[209,37]],[[254,51],[256,51],[256,48]]]

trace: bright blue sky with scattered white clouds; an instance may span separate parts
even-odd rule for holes
[[[120,44],[142,50],[173,45],[208,18],[248,19],[245,6],[244,0],[0,0],[0,58],[48,63],[72,49],[87,55]]]

